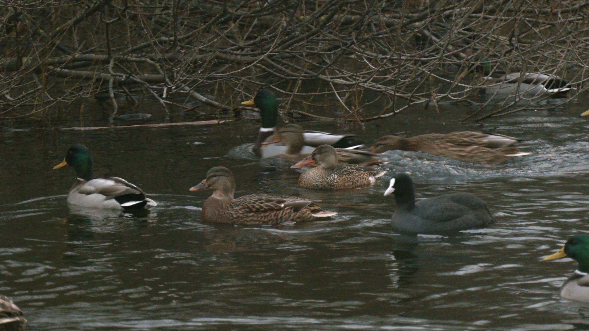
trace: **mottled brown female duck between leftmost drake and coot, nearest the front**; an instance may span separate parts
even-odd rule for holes
[[[226,167],[207,171],[207,178],[190,191],[211,188],[213,195],[203,204],[203,219],[216,223],[275,225],[286,221],[311,221],[337,213],[323,211],[313,201],[291,196],[250,194],[234,199],[233,173]]]

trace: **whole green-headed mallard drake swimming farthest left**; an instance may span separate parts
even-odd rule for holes
[[[72,145],[64,161],[53,169],[74,167],[76,181],[68,193],[68,203],[84,207],[139,209],[145,205],[157,206],[155,201],[145,197],[141,188],[123,178],[92,178],[92,155],[87,147]]]

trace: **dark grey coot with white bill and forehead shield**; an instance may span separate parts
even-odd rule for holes
[[[415,202],[413,181],[407,174],[391,178],[384,195],[391,193],[397,204],[391,225],[399,233],[445,233],[495,222],[485,201],[471,193],[443,194]]]

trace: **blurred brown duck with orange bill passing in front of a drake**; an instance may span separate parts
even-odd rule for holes
[[[274,135],[274,141],[262,144],[273,143],[283,143],[285,146],[283,146],[284,150],[280,154],[280,157],[294,163],[303,160],[303,158],[311,154],[302,152],[303,147],[308,146],[305,146],[305,141],[303,140],[303,128],[298,124],[291,123],[284,125],[284,127],[278,129],[278,136]],[[336,148],[335,150],[338,163],[360,164],[363,166],[382,164],[378,159],[378,156],[382,154],[379,153],[351,148]]]

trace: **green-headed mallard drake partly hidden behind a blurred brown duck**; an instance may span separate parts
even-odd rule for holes
[[[260,108],[260,118],[262,118],[262,127],[260,127],[260,131],[258,133],[256,143],[254,144],[253,152],[256,155],[264,157],[262,153],[263,147],[262,143],[266,141],[267,138],[274,134],[276,130],[276,121],[278,120],[278,103],[276,101],[276,97],[274,94],[268,90],[260,90],[257,92],[256,97],[249,101],[241,102],[242,105],[256,105],[256,107]],[[303,137],[305,139],[305,144],[313,147],[317,147],[319,145],[328,144],[333,145],[339,148],[345,148],[353,146],[352,137],[355,137],[353,134],[347,135],[337,135],[337,134],[330,134],[321,131],[305,131],[303,132]],[[280,154],[280,153],[278,153]],[[275,156],[268,155],[266,157]]]

